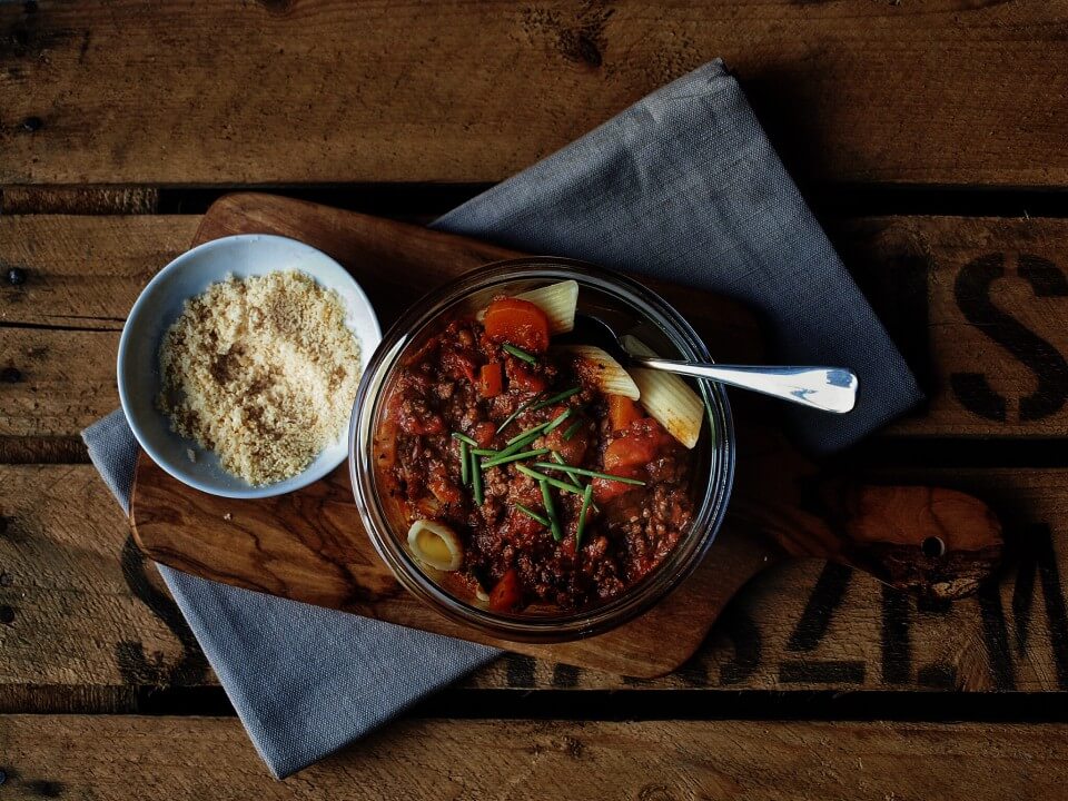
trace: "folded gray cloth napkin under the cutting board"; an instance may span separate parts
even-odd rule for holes
[[[773,325],[779,360],[844,365],[860,376],[852,414],[801,419],[798,435],[812,449],[854,442],[921,397],[721,61],[653,92],[434,227],[759,306]],[[127,507],[137,451],[121,413],[83,436]],[[498,653],[160,572],[277,777]]]

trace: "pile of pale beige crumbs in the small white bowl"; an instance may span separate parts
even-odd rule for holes
[[[297,270],[212,284],[159,349],[175,432],[253,485],[297,475],[345,429],[359,342],[336,291]]]

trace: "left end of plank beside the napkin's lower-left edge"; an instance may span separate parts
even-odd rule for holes
[[[158,573],[123,548],[126,517],[91,466],[0,475],[0,704],[33,686],[214,682]]]

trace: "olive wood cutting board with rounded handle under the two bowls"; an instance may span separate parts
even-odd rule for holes
[[[324,250],[360,283],[387,328],[399,312],[461,273],[517,254],[413,225],[269,195],[208,210],[192,245],[233,234],[280,234]],[[758,320],[733,300],[655,281],[721,362],[759,362]],[[369,356],[369,354],[366,354]],[[632,676],[671,672],[701,644],[751,577],[789,557],[833,560],[929,596],[967,594],[1001,555],[1001,528],[981,501],[926,486],[872,486],[823,475],[774,424],[774,409],[732,393],[738,467],[730,514],[704,563],[652,611],[595,637],[556,644],[494,640],[409,595],[360,524],[348,465],[296,493],[256,501],[206,495],[144,453],[130,520],[151,558],[306,603]]]

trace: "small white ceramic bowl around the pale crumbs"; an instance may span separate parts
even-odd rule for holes
[[[149,281],[130,309],[119,340],[118,382],[122,412],[134,436],[152,459],[170,475],[212,495],[237,498],[269,497],[299,490],[318,481],[348,455],[346,432],[299,475],[266,486],[253,486],[227,473],[214,453],[170,429],[170,419],[156,408],[161,376],[159,346],[164,334],[187,298],[199,295],[227,274],[237,278],[297,269],[327,289],[336,289],[345,303],[345,323],[359,338],[360,362],[367,364],[382,339],[378,319],[359,285],[337,261],[309,245],[266,234],[225,237],[182,254]],[[187,449],[194,447],[197,461]]]

